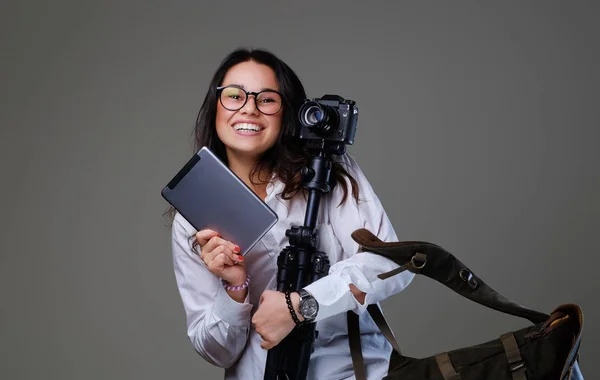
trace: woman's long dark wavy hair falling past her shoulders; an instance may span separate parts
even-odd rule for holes
[[[216,131],[217,87],[222,84],[229,69],[238,63],[247,61],[254,61],[273,69],[279,84],[279,92],[284,99],[279,138],[275,145],[259,159],[250,173],[250,181],[256,183],[255,179],[261,173],[274,173],[284,184],[282,198],[290,199],[303,189],[300,171],[310,163],[313,157],[313,154],[305,149],[304,143],[293,137],[298,126],[297,112],[306,99],[306,93],[296,73],[273,53],[261,49],[239,48],[223,59],[210,82],[208,92],[196,118],[194,149],[198,151],[206,146],[227,163],[225,146]],[[344,177],[348,178],[352,196],[358,201],[359,189],[356,180],[337,162],[332,162],[331,176],[334,186],[343,185],[344,195],[341,203],[344,203],[348,196],[348,187]]]

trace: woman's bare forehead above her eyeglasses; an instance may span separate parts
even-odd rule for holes
[[[275,72],[267,65],[254,61],[242,62],[227,71],[222,86],[236,84],[248,91],[272,89],[279,91]]]

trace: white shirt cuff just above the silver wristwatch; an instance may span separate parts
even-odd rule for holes
[[[304,289],[312,294],[319,303],[319,313],[315,321],[320,321],[331,316],[354,310],[363,305],[354,298],[350,291],[348,280],[342,273],[332,273],[305,286]],[[364,306],[363,308],[366,308]]]

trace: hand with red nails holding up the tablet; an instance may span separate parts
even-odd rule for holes
[[[238,255],[240,248],[237,245],[210,229],[198,231],[196,241],[201,248],[200,259],[211,273],[234,286],[246,281],[244,257]]]

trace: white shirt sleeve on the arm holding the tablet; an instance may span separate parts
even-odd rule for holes
[[[192,249],[195,229],[180,215],[173,220],[172,251],[187,334],[208,362],[228,368],[239,358],[250,331],[252,305],[233,300]]]

